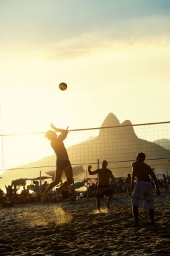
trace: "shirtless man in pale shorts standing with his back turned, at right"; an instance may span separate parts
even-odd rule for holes
[[[132,212],[135,220],[135,226],[138,226],[138,207],[142,206],[142,201],[144,201],[144,207],[148,208],[151,225],[154,225],[155,211],[151,178],[153,178],[155,183],[157,195],[160,195],[157,177],[155,176],[151,166],[144,163],[145,157],[144,153],[138,153],[136,161],[132,162],[132,189],[135,177],[137,179],[132,193]]]

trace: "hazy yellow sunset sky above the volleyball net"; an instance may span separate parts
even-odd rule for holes
[[[169,13],[169,0],[1,0],[3,133],[99,127],[109,113],[169,121]]]

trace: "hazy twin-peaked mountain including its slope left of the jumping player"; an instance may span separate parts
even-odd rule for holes
[[[85,132],[85,131],[84,131]],[[152,143],[137,137],[132,123],[129,120],[120,123],[118,118],[110,113],[99,129],[96,137],[77,143],[67,148],[73,166],[81,165],[87,170],[89,164],[92,170],[105,159],[115,177],[125,177],[131,171],[131,162],[135,160],[138,152],[146,154],[146,163],[155,168],[155,173],[163,173],[169,166],[170,151],[157,143]],[[98,162],[98,165],[97,165]],[[19,178],[37,177],[55,170],[56,156],[51,155],[36,162],[19,166],[16,170],[7,170],[1,175],[1,184],[9,185],[11,181]],[[91,177],[93,178],[93,176]]]

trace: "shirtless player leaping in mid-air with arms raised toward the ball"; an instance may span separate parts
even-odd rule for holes
[[[48,192],[58,185],[60,183],[60,179],[62,177],[62,172],[65,172],[65,175],[67,177],[67,181],[65,183],[62,183],[60,187],[57,189],[57,194],[59,195],[60,191],[62,189],[65,189],[69,185],[73,183],[73,169],[71,167],[71,163],[69,161],[69,156],[67,154],[67,150],[65,148],[65,145],[63,143],[63,140],[67,137],[68,134],[68,128],[66,130],[59,129],[54,127],[54,125],[51,125],[52,130],[48,130],[45,134],[45,137],[50,139],[51,141],[51,147],[54,150],[56,154],[56,174],[55,174],[55,180],[48,185],[46,190],[43,191],[42,197],[41,197],[41,203],[44,203],[46,199],[46,195]],[[60,132],[60,135],[56,135],[56,131]]]

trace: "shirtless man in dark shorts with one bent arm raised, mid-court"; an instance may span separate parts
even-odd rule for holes
[[[107,195],[108,202],[107,207],[110,210],[110,201],[113,198],[113,191],[110,189],[110,178],[114,179],[114,175],[112,171],[106,168],[108,166],[108,162],[103,160],[102,168],[91,171],[92,166],[88,166],[88,172],[90,175],[98,174],[98,186],[96,191],[96,203],[97,203],[97,210],[100,212],[100,199],[103,199],[104,195]]]

